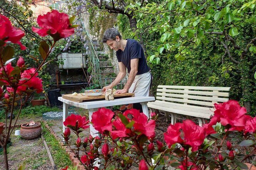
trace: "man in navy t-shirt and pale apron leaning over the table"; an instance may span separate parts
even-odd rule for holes
[[[115,28],[109,28],[103,34],[102,41],[116,51],[119,63],[119,73],[116,79],[103,90],[113,88],[126,75],[126,68],[129,73],[128,81],[122,90],[117,90],[116,94],[127,92],[134,93],[135,96],[149,96],[151,74],[146,63],[144,51],[138,41],[133,39],[124,40]],[[134,104],[134,108],[142,108],[140,104]]]

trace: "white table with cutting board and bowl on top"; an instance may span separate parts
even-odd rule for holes
[[[148,106],[147,103],[150,101],[155,101],[155,97],[124,97],[124,98],[117,98],[114,100],[100,100],[100,101],[89,101],[89,102],[73,102],[66,100],[62,97],[58,97],[59,101],[63,102],[63,122],[68,117],[68,105],[80,107],[89,110],[89,120],[92,119],[92,113],[97,111],[98,108],[102,107],[109,107],[109,106],[117,106],[117,105],[124,105],[130,103],[140,103],[142,105],[143,113],[149,117]],[[65,126],[63,125],[63,133],[65,131]],[[92,125],[90,125],[90,134],[92,137],[99,136],[98,131],[94,129]]]

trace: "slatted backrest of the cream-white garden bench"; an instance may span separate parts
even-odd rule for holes
[[[156,99],[189,105],[214,106],[229,99],[230,87],[167,86],[159,85]],[[224,92],[222,92],[224,91]]]

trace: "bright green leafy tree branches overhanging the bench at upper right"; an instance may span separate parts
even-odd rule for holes
[[[160,4],[148,3],[144,8],[128,5],[135,13],[137,27],[148,28],[150,33],[161,35],[161,44],[151,62],[170,57],[176,52],[177,61],[183,61],[190,54],[188,47],[215,41],[224,51],[223,61],[228,64],[222,69],[222,76],[230,78],[229,72],[236,67],[239,72],[242,100],[247,111],[255,97],[256,64],[256,1],[202,1],[164,0]],[[215,78],[218,78],[218,75]],[[209,80],[215,79],[212,77]]]

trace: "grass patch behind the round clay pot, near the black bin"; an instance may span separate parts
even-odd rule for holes
[[[16,107],[14,110],[14,115],[17,116],[19,111],[19,108]],[[46,112],[50,112],[50,111],[60,111],[59,108],[57,107],[49,107],[49,106],[27,106],[27,107],[23,107],[21,109],[21,113],[20,113],[20,118],[38,118],[38,117],[42,117],[43,113]],[[5,121],[5,110],[1,109],[0,110],[0,122],[4,122]]]

